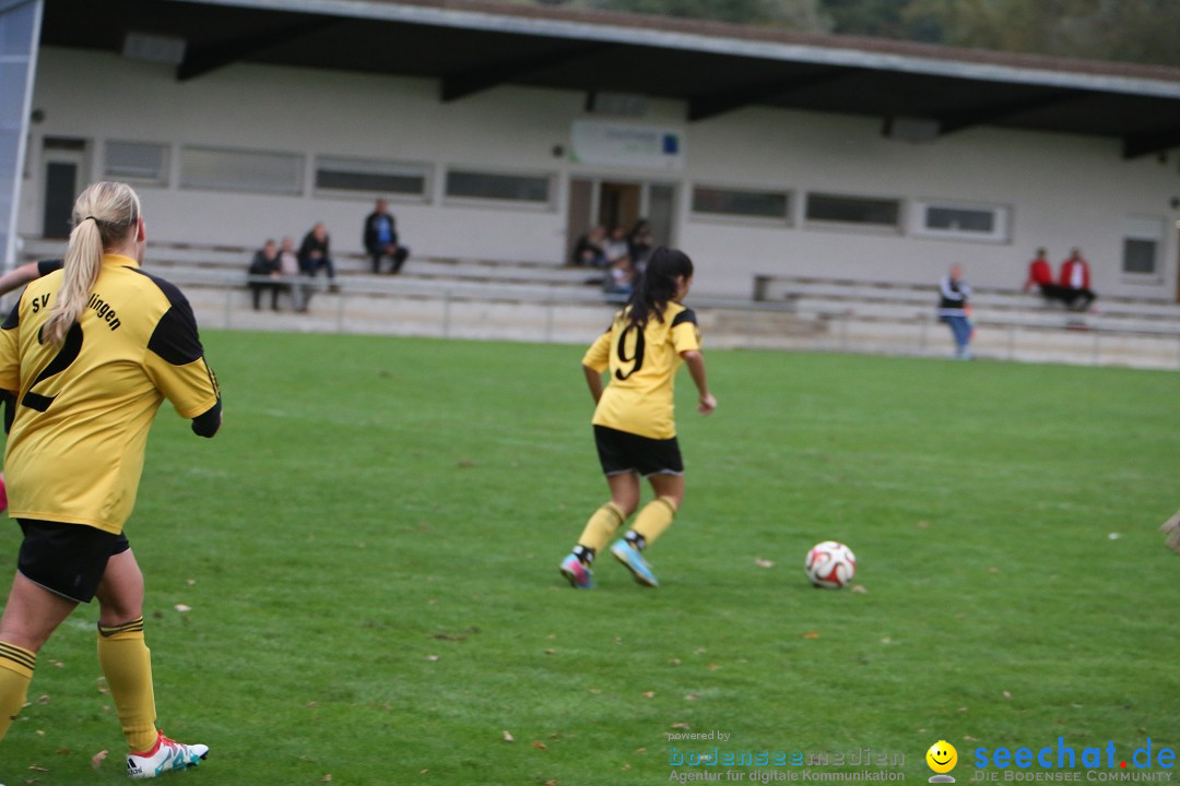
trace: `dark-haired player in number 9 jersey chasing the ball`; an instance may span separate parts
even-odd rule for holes
[[[595,443],[610,502],[590,516],[577,546],[562,560],[562,575],[575,589],[594,586],[590,566],[638,507],[641,475],[651,483],[656,498],[643,507],[610,553],[637,582],[660,586],[643,550],[671,526],[684,498],[684,464],[673,420],[673,382],[681,363],[688,365],[696,385],[697,411],[708,415],[717,405],[704,376],[696,315],[682,304],[691,284],[691,259],[682,251],[656,249],[627,306],[582,358],[595,401]],[[605,387],[604,371],[610,372]]]

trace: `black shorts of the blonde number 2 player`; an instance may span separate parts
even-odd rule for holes
[[[17,569],[35,584],[63,597],[88,603],[94,597],[106,561],[131,548],[127,536],[57,521],[18,519],[25,540]]]

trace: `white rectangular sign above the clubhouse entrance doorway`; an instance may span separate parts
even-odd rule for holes
[[[661,126],[575,120],[570,160],[598,166],[681,170],[684,133]]]

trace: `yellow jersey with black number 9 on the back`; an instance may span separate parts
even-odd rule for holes
[[[681,352],[701,348],[696,315],[678,303],[669,303],[663,321],[654,315],[640,330],[628,326],[627,311],[615,315],[610,330],[590,345],[583,365],[599,372],[610,370],[610,381],[594,424],[654,440],[676,436],[673,388]]]

